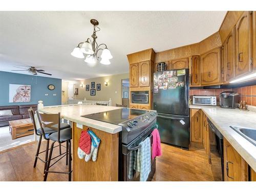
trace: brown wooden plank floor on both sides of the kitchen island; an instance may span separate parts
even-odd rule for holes
[[[46,142],[42,142],[45,148]],[[33,168],[37,143],[17,147],[14,150],[0,153],[0,181],[42,181],[44,164],[38,160]],[[63,152],[65,148],[62,148]],[[205,151],[190,147],[189,151],[162,144],[162,156],[157,158],[154,181],[220,181],[220,159],[212,157],[208,164]],[[58,147],[53,156],[58,155]],[[41,156],[43,157],[43,156]],[[52,170],[67,171],[65,158],[61,159]],[[68,181],[68,175],[49,173],[48,181]]]

